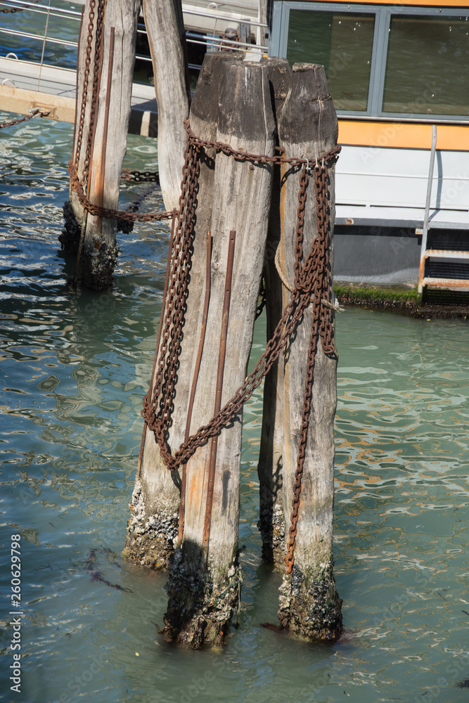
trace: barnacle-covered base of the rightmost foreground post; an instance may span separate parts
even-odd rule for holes
[[[278,589],[281,626],[315,642],[333,643],[342,635],[342,600],[335,590],[333,564],[303,574],[293,565]]]

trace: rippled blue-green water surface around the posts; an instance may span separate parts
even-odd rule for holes
[[[112,292],[70,288],[72,264],[57,236],[71,137],[68,125],[39,120],[0,132],[0,699],[467,701],[458,686],[469,678],[467,323],[355,309],[338,316],[342,641],[307,645],[259,626],[276,621],[279,577],[260,561],[257,394],[245,411],[240,627],[222,652],[168,647],[158,635],[165,576],[120,558],[168,231],[139,225],[119,235]],[[155,142],[129,137],[127,166],[151,168],[156,159]],[[162,207],[155,193],[148,203]],[[264,333],[260,318],[255,354]],[[17,532],[20,695],[8,683]]]

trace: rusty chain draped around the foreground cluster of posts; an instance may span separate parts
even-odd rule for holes
[[[302,473],[304,456],[307,444],[309,415],[311,411],[311,396],[314,375],[314,361],[318,338],[321,337],[323,350],[326,354],[335,354],[333,343],[333,320],[331,310],[323,304],[330,301],[330,276],[328,271],[329,257],[329,211],[328,211],[328,166],[335,162],[340,147],[335,147],[327,154],[316,160],[312,167],[309,161],[300,158],[287,159],[283,156],[266,156],[248,154],[235,151],[228,144],[221,142],[203,141],[193,134],[188,120],[186,127],[186,152],[181,183],[181,198],[179,200],[178,224],[173,245],[171,277],[168,288],[165,322],[162,330],[162,340],[159,349],[158,370],[155,384],[150,387],[143,400],[142,415],[146,426],[153,430],[155,439],[160,446],[160,455],[163,463],[169,470],[176,470],[181,464],[188,461],[198,447],[203,446],[209,439],[215,437],[226,427],[233,418],[240,413],[243,404],[255,389],[259,387],[263,378],[274,364],[281,351],[288,344],[288,340],[302,320],[304,311],[313,302],[313,315],[311,320],[311,334],[307,357],[307,375],[304,386],[304,406],[302,412],[302,425],[300,430],[300,443],[297,456],[297,469],[295,471],[294,496],[292,501],[292,514],[290,517],[290,530],[287,548],[287,573],[291,573],[294,563],[295,537],[297,534],[298,511],[300,507],[300,494],[302,488]],[[184,326],[184,308],[188,295],[188,269],[190,260],[186,257],[191,252],[193,243],[193,214],[195,213],[198,180],[198,157],[203,149],[212,148],[217,152],[232,156],[238,161],[289,164],[300,168],[300,189],[298,193],[297,225],[295,231],[295,285],[290,294],[290,302],[285,307],[274,335],[266,345],[264,354],[257,362],[252,373],[248,375],[245,383],[236,391],[221,411],[214,415],[207,425],[200,427],[195,434],[188,437],[179,449],[172,454],[167,444],[167,430],[172,411],[175,392],[176,370],[181,348],[181,333]],[[303,231],[304,208],[307,199],[307,186],[309,172],[314,171],[314,186],[316,193],[316,214],[318,222],[318,237],[313,240],[311,250],[303,262]],[[191,183],[193,181],[193,183]],[[157,350],[158,354],[158,350]]]

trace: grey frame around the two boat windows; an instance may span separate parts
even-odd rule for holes
[[[371,51],[370,84],[368,86],[368,105],[366,110],[338,110],[341,117],[380,118],[383,120],[418,120],[419,122],[468,122],[469,115],[438,115],[426,112],[384,112],[384,87],[386,75],[387,47],[390,37],[391,19],[398,15],[432,16],[432,17],[469,17],[469,7],[416,7],[412,5],[372,5],[345,4],[337,2],[314,2],[302,0],[275,0],[272,15],[272,33],[269,56],[287,56],[288,27],[290,10],[309,12],[340,12],[349,14],[369,14],[375,16],[373,49]],[[469,21],[469,20],[468,20]]]

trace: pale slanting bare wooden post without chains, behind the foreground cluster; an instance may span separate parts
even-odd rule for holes
[[[158,102],[158,172],[167,210],[179,205],[188,116],[181,0],[143,0]]]

